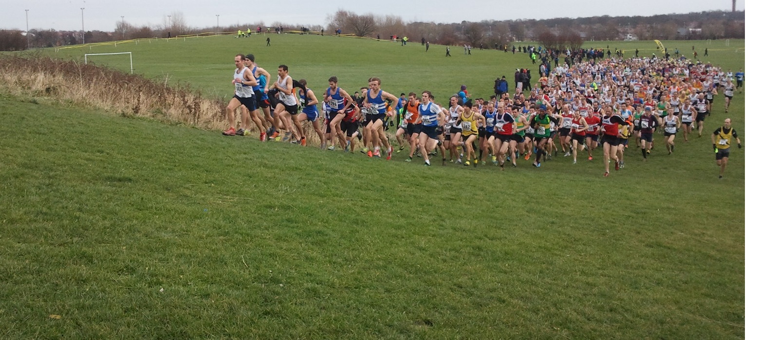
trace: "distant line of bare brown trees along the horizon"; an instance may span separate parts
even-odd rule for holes
[[[266,28],[263,22],[241,25],[194,28],[187,25],[181,12],[164,16],[164,24],[134,26],[117,21],[113,32],[91,30],[82,32],[58,30],[30,30],[30,47],[55,47],[72,44],[97,43],[111,40],[129,40],[149,37],[171,37],[203,32],[234,32]],[[305,28],[312,33],[326,30],[334,33],[354,34],[358,37],[389,39],[392,35],[408,37],[415,42],[462,45],[474,47],[499,47],[515,41],[554,41],[555,46],[574,47],[586,40],[623,40],[632,34],[639,40],[701,40],[743,39],[746,37],[745,12],[693,12],[657,16],[591,16],[587,18],[483,20],[461,23],[406,23],[399,16],[357,14],[346,10],[327,16],[326,26],[306,26],[273,22],[271,27],[284,30]],[[0,30],[0,51],[21,51],[27,38],[21,30]]]

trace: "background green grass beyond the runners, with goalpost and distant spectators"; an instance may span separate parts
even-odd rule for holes
[[[265,38],[270,37],[271,46],[265,46]],[[724,40],[706,41],[664,41],[664,46],[673,53],[679,48],[682,54],[692,58],[692,47],[699,51],[699,58],[712,61],[721,67],[738,68],[744,66],[745,40],[730,40],[725,46]],[[516,42],[516,45],[532,44]],[[583,47],[625,50],[633,56],[636,48],[641,56],[657,52],[654,41],[585,41]],[[709,48],[710,57],[703,58],[703,48]],[[452,57],[446,58],[446,47],[431,45],[430,51],[417,43],[401,47],[399,43],[354,39],[349,37],[319,37],[297,34],[256,34],[249,38],[201,37],[149,40],[138,44],[118,44],[80,47],[72,49],[47,50],[47,53],[62,58],[72,58],[83,62],[86,53],[132,52],[136,72],[150,78],[170,79],[170,82],[185,82],[197,89],[203,89],[213,96],[232,96],[231,75],[234,69],[235,54],[255,54],[257,64],[265,68],[276,80],[278,65],[290,68],[294,79],[305,78],[308,86],[320,95],[327,87],[327,79],[336,75],[340,86],[354,93],[361,86],[368,86],[368,78],[378,76],[382,79],[382,88],[400,95],[414,91],[421,93],[429,89],[439,98],[452,95],[460,90],[460,85],[468,86],[472,97],[488,98],[494,94],[492,86],[496,77],[506,75],[513,82],[515,68],[529,68],[533,71],[533,81],[538,79],[538,65],[533,65],[527,54],[511,54],[502,51],[478,49],[471,55],[464,55],[460,47],[452,47]],[[659,54],[659,53],[657,53]],[[93,56],[92,61],[111,65],[129,71],[129,57]],[[561,58],[562,62],[562,58]]]

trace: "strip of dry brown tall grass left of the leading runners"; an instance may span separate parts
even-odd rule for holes
[[[17,96],[44,96],[207,130],[227,125],[226,103],[204,98],[189,86],[166,86],[140,75],[41,54],[0,54],[0,88]]]

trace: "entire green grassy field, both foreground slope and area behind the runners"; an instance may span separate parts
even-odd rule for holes
[[[379,75],[396,93],[466,83],[486,96],[495,75],[530,66],[497,51],[271,37],[299,53],[255,51],[262,61],[347,89]],[[117,48],[144,75],[221,94],[231,56],[263,40],[137,45],[146,61]],[[368,64],[365,50],[386,58]],[[742,67],[743,53],[721,53],[715,63]],[[723,117],[715,107],[707,130]],[[719,181],[708,138],[648,163],[632,144],[603,178],[597,157],[425,168],[35,97],[0,94],[0,121],[3,338],[745,335],[745,153]]]

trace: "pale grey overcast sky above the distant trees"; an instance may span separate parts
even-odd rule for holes
[[[737,10],[744,10],[738,0]],[[250,5],[256,4],[256,5]],[[243,8],[236,9],[235,5]],[[81,8],[84,8],[84,29],[113,31],[117,21],[134,26],[164,26],[168,15],[181,12],[192,27],[210,27],[263,22],[297,25],[323,25],[327,16],[338,9],[358,14],[400,16],[406,22],[460,23],[485,19],[552,19],[587,16],[652,16],[655,14],[703,12],[731,9],[731,0],[557,0],[534,2],[527,0],[446,0],[423,2],[394,1],[284,1],[226,2],[190,0],[135,0],[128,2],[95,0],[0,0],[0,29],[25,30],[25,9],[29,9],[30,29],[81,30]],[[248,13],[248,14],[247,14]]]

